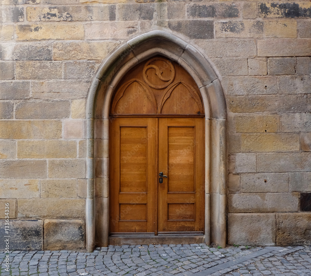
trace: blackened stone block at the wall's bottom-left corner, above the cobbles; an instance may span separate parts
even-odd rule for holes
[[[10,220],[10,250],[43,250],[43,220]],[[5,220],[0,220],[0,233],[4,237]],[[0,249],[6,248],[5,239],[0,241]]]

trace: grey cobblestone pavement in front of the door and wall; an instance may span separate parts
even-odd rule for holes
[[[215,248],[203,244],[137,245],[80,251],[0,253],[0,276],[311,275],[311,247]]]

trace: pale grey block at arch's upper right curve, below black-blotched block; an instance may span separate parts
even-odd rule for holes
[[[254,40],[195,40],[195,43],[208,52],[209,57],[255,57],[257,55]]]

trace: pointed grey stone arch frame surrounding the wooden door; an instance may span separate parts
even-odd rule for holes
[[[173,34],[157,30],[139,35],[113,51],[102,62],[87,95],[87,251],[92,251],[95,244],[108,245],[109,110],[114,88],[128,70],[156,55],[178,62],[200,89],[205,110],[205,242],[225,247],[226,103],[220,81],[207,57],[196,48]]]

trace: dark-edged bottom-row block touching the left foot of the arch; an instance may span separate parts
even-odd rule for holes
[[[44,250],[79,250],[84,248],[84,220],[44,220]]]

